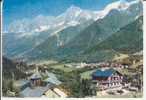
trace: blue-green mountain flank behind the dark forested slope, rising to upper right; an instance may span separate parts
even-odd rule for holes
[[[121,3],[121,5],[123,4],[125,3]],[[109,8],[109,6],[107,6],[107,8]],[[115,33],[121,27],[134,21],[141,12],[141,3],[133,3],[126,10],[119,10],[117,8],[111,9],[104,18],[97,20],[82,31],[80,35],[69,43],[67,48],[73,49],[77,47],[78,49],[83,50],[90,48],[110,36],[112,33]]]

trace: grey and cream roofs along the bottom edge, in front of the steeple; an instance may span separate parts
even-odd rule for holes
[[[46,86],[37,86],[35,88],[27,87],[20,92],[20,97],[48,97],[48,98],[59,98],[67,97],[64,91],[54,87],[52,84]]]

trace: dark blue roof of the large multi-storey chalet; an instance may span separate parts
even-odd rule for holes
[[[92,76],[95,77],[109,77],[111,76],[113,73],[117,72],[114,69],[106,69],[106,70],[96,70]]]

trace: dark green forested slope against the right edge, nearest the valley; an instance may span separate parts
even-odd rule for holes
[[[143,49],[143,17],[139,17],[136,21],[124,26],[113,35],[97,44],[96,46],[86,50],[84,55],[96,54],[99,51],[111,51],[117,53],[132,54]],[[109,55],[111,55],[109,53]],[[114,55],[113,55],[114,56]]]

